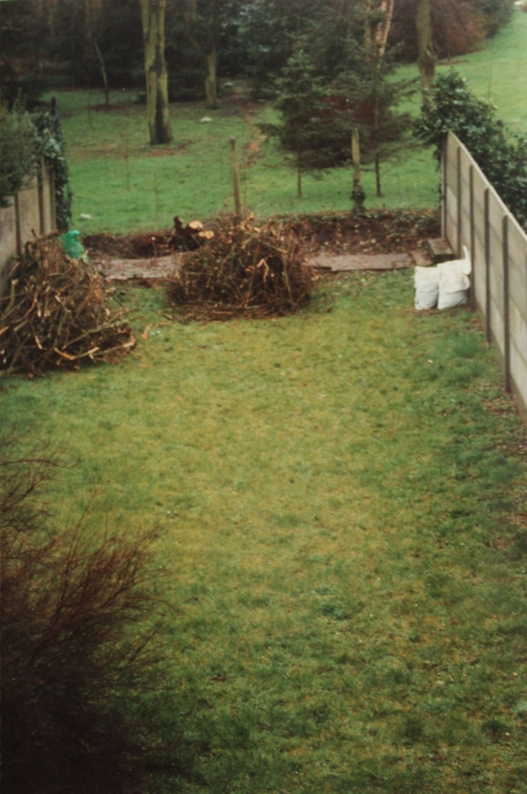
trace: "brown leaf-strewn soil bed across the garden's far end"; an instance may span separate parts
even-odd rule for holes
[[[304,241],[310,253],[404,253],[419,249],[426,237],[440,233],[439,214],[433,211],[378,212],[364,215],[317,214],[282,219]],[[206,223],[213,228],[214,223]],[[129,236],[92,234],[83,237],[95,259],[145,259],[167,256],[182,249],[169,229]]]

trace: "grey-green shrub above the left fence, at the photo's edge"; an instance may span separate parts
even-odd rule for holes
[[[35,128],[21,106],[0,107],[0,206],[16,193],[37,166]]]

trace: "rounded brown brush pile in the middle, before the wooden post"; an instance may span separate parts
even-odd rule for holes
[[[188,319],[227,320],[291,314],[310,300],[312,277],[302,244],[277,222],[224,218],[207,245],[172,277],[168,296]]]

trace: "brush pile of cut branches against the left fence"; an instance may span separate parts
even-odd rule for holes
[[[94,268],[67,256],[56,237],[26,246],[0,299],[0,369],[78,368],[85,359],[113,361],[134,344]]]

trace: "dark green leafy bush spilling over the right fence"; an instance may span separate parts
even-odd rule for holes
[[[456,133],[517,220],[527,225],[527,133],[507,129],[494,105],[475,97],[458,72],[437,78],[414,129],[435,147],[438,162],[446,133]]]

